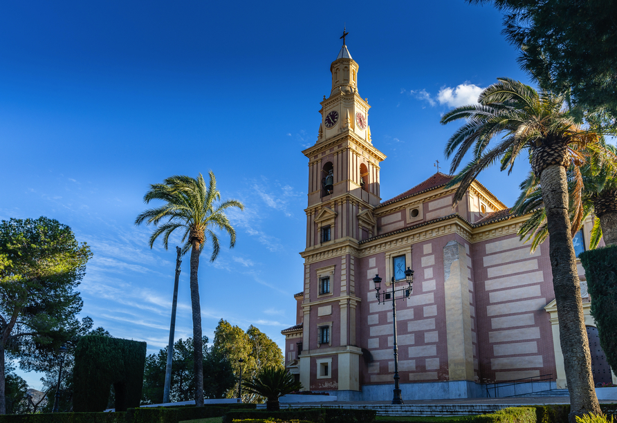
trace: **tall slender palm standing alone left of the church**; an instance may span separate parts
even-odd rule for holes
[[[195,366],[195,402],[197,406],[203,406],[203,348],[201,332],[201,306],[199,303],[199,285],[197,283],[197,270],[199,268],[199,254],[207,241],[212,245],[210,263],[217,259],[221,246],[219,236],[215,231],[227,232],[230,236],[229,247],[233,248],[236,243],[236,231],[225,216],[225,210],[230,207],[238,207],[243,210],[244,206],[238,200],[221,200],[221,193],[217,189],[217,180],[212,171],[210,183],[206,185],[203,176],[199,173],[197,179],[190,176],[172,176],[165,179],[162,184],[150,185],[149,191],[144,196],[144,203],[151,200],[163,200],[165,205],[154,209],[147,209],[137,216],[136,225],[151,223],[156,229],[150,236],[150,248],[158,236],[163,235],[163,246],[168,248],[169,236],[176,229],[183,231],[182,254],[191,250],[191,306],[193,314],[193,354]]]

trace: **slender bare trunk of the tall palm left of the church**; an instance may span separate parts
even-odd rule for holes
[[[193,312],[193,360],[195,369],[195,405],[203,407],[203,341],[201,339],[201,305],[199,303],[199,241],[193,239],[191,249],[191,307]]]

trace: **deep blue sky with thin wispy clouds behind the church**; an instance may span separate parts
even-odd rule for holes
[[[0,218],[48,216],[94,253],[82,315],[116,337],[167,343],[174,249],[135,227],[151,183],[214,171],[237,244],[199,268],[203,332],[219,319],[282,346],[302,290],[307,159],[347,46],[372,109],[391,198],[436,171],[457,128],[439,119],[506,76],[529,82],[492,7],[462,0],[19,1],[0,15]],[[481,178],[506,205],[528,171]],[[443,169],[443,168],[442,168]],[[227,243],[225,238],[225,243]],[[176,339],[192,335],[189,257]],[[34,388],[39,376],[22,375]]]

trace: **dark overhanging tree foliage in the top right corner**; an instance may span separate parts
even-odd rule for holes
[[[503,33],[540,86],[617,125],[617,1],[467,1],[504,11]]]

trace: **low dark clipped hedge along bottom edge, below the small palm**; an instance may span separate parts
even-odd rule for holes
[[[264,419],[310,420],[315,423],[371,423],[377,412],[374,410],[350,410],[348,408],[291,408],[281,411],[230,411],[223,415],[223,423],[234,420]]]

